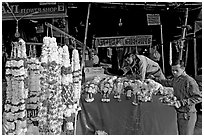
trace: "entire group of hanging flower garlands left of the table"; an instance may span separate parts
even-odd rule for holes
[[[78,50],[70,57],[67,45],[44,37],[36,58],[35,46],[27,56],[25,45],[23,39],[13,42],[6,63],[3,134],[73,135],[82,80]]]

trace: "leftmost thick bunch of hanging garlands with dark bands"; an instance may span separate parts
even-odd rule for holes
[[[28,80],[26,45],[20,39],[12,43],[11,58],[6,62],[6,101],[3,112],[3,132],[7,135],[24,135],[27,131],[26,100]]]

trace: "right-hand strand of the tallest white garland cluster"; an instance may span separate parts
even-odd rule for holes
[[[61,63],[63,49],[58,49],[56,38],[50,38],[50,56],[48,58],[48,123],[49,134],[60,135],[63,124],[63,104],[61,97]]]

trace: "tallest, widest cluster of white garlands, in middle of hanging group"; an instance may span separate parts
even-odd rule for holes
[[[41,56],[41,96],[39,129],[41,134],[59,135],[63,124],[61,64],[63,49],[56,38],[44,37]]]

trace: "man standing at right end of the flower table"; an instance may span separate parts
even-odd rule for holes
[[[202,102],[201,91],[198,84],[185,72],[183,61],[176,61],[172,65],[174,78],[171,80],[161,80],[154,78],[164,86],[174,89],[174,96],[177,101],[174,106],[177,111],[178,132],[180,135],[193,135],[197,120],[195,105]]]

